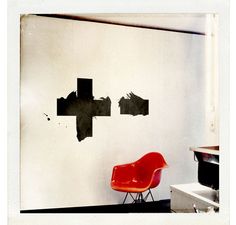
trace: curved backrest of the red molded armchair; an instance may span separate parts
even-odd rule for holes
[[[135,162],[137,178],[143,182],[152,181],[150,188],[156,187],[161,180],[161,170],[167,167],[164,157],[159,152],[150,152]]]

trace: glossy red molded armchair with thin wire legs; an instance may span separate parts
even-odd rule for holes
[[[111,188],[126,192],[123,204],[128,194],[132,197],[133,203],[146,202],[149,194],[154,201],[151,188],[159,185],[161,171],[165,167],[167,167],[167,163],[159,152],[147,153],[135,162],[114,166]],[[148,193],[143,197],[145,191]],[[136,197],[132,193],[136,193]]]

